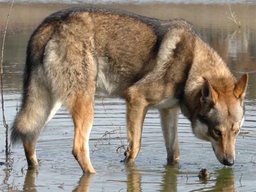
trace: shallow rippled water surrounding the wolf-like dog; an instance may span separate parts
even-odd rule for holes
[[[83,4],[84,5],[84,4]],[[1,3],[1,26],[9,4]],[[67,4],[15,4],[9,21],[4,50],[4,105],[7,123],[10,125],[17,113],[22,88],[22,73],[26,44],[33,29],[50,12],[70,7]],[[77,6],[77,4],[76,4]],[[249,73],[245,97],[246,120],[236,140],[236,163],[232,167],[221,165],[210,143],[198,140],[191,131],[189,121],[179,115],[178,136],[180,163],[166,164],[166,150],[157,111],[148,111],[143,126],[142,147],[136,165],[126,166],[117,134],[111,133],[98,142],[113,126],[102,106],[104,105],[127,143],[125,131],[125,102],[96,93],[95,119],[90,134],[90,158],[95,175],[82,175],[81,168],[71,154],[73,147],[73,122],[61,108],[41,133],[37,143],[38,171],[27,170],[21,146],[13,151],[9,165],[0,166],[0,190],[8,191],[91,191],[91,192],[152,192],[152,191],[256,191],[256,30],[255,4],[233,5],[241,20],[242,28],[227,19],[227,5],[184,4],[111,4],[108,7],[125,9],[138,14],[162,19],[183,17],[195,24],[202,37],[227,61],[230,70],[239,78]],[[1,42],[3,39],[1,27]],[[110,138],[109,138],[110,137]],[[98,142],[98,143],[97,143]],[[97,143],[97,145],[96,145]],[[5,130],[0,123],[0,150],[5,148]],[[5,162],[4,152],[0,162]],[[23,169],[22,169],[23,168]],[[206,168],[210,179],[198,178],[198,172]],[[23,170],[23,171],[21,171]],[[243,174],[243,175],[242,175]],[[241,177],[242,175],[242,177]]]

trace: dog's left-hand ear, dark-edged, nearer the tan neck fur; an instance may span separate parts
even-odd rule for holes
[[[209,81],[206,79],[202,87],[201,105],[205,109],[212,108],[218,99],[218,93],[212,88]]]

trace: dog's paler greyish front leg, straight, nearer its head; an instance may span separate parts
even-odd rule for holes
[[[178,115],[179,107],[159,109],[163,137],[166,144],[167,162],[175,163],[180,159],[178,143]]]

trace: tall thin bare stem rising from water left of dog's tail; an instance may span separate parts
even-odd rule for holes
[[[13,5],[14,0],[12,0],[12,5]],[[4,40],[5,40],[5,36],[6,36],[6,29],[7,29],[7,24],[8,24],[8,20],[9,20],[9,16],[11,13],[11,9],[12,9],[12,5],[10,7],[9,13],[7,15],[7,19],[6,19],[6,28],[4,30],[4,35],[3,35],[3,46],[4,46]],[[6,158],[8,157],[8,129],[9,126],[6,124],[6,119],[4,116],[4,108],[3,108],[3,46],[2,46],[2,55],[1,55],[1,64],[0,64],[0,68],[1,68],[1,96],[2,96],[2,111],[3,111],[3,126],[6,128]]]

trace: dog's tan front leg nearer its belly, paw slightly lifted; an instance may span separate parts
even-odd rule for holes
[[[140,151],[142,127],[148,105],[144,96],[135,87],[127,89],[126,104],[128,147],[123,162],[133,163]]]

